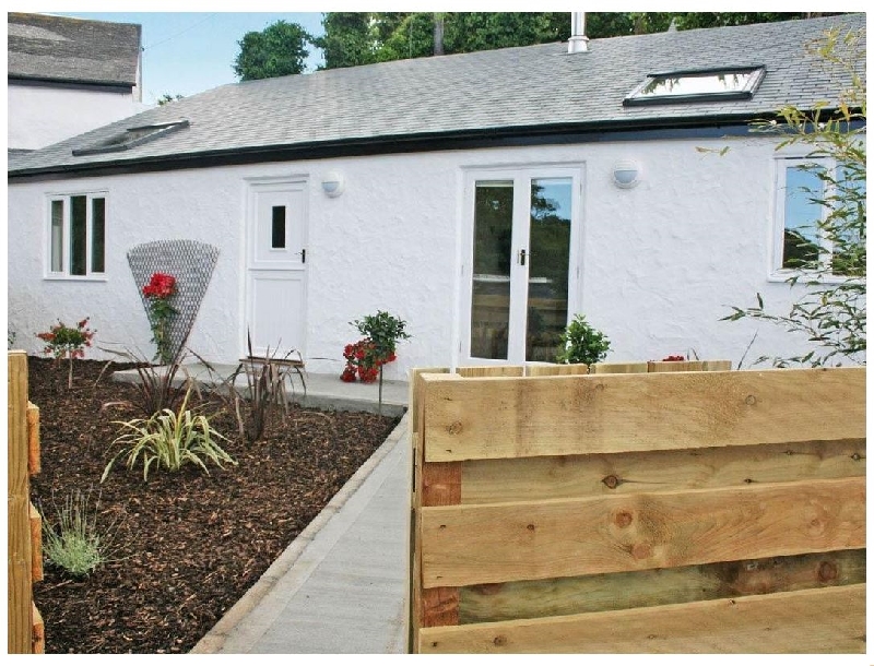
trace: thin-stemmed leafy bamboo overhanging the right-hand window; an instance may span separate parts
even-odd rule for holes
[[[765,307],[760,294],[754,307],[732,307],[723,320],[757,319],[806,336],[811,348],[789,357],[761,357],[775,366],[864,364],[866,344],[866,83],[864,34],[832,31],[811,46],[825,74],[849,73],[851,85],[835,103],[812,110],[786,107],[778,120],[754,123],[781,138],[777,150],[808,148],[805,168],[822,180],[823,194],[811,194],[824,214],[795,240],[798,272],[787,282],[802,290],[788,312]],[[826,159],[837,168],[823,169]]]

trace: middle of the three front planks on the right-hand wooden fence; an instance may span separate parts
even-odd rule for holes
[[[865,546],[865,478],[424,507],[425,587],[639,571]]]

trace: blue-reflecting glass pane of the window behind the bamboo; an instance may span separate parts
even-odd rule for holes
[[[823,180],[815,171],[787,168],[782,267],[800,269],[818,260],[822,200]]]

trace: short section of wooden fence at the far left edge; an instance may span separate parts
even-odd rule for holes
[[[31,475],[39,472],[39,409],[27,400],[27,356],[8,354],[8,639],[9,654],[45,650],[33,583],[43,580],[43,527],[31,503]]]

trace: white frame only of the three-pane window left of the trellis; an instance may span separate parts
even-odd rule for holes
[[[76,197],[85,198],[85,273],[72,273],[72,215],[73,215],[73,199]],[[103,200],[103,271],[94,271],[94,201]],[[63,206],[61,215],[61,248],[60,261],[61,270],[54,269],[52,259],[57,255],[55,253],[55,234],[54,234],[54,209],[56,202],[61,202]],[[101,282],[106,280],[106,245],[107,245],[107,224],[109,217],[109,197],[105,190],[90,190],[81,192],[54,192],[46,195],[46,226],[45,226],[45,241],[43,245],[45,252],[44,261],[44,278],[45,280],[61,280],[61,281],[92,281]]]

